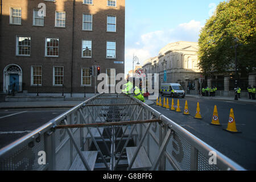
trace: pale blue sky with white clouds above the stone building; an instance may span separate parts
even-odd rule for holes
[[[133,69],[133,55],[143,65],[168,43],[197,42],[200,29],[223,1],[126,0],[125,73]]]

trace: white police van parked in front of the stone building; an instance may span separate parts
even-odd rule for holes
[[[182,86],[176,83],[161,84],[160,94],[167,94],[171,97],[185,97],[185,91],[183,90]]]

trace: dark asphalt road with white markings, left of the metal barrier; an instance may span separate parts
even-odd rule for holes
[[[68,109],[0,110],[0,148],[37,129],[66,110]]]

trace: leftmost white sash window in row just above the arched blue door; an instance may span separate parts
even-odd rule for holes
[[[30,56],[30,36],[16,36],[16,55]]]

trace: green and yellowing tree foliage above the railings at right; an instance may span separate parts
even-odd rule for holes
[[[255,0],[221,2],[205,23],[199,38],[199,67],[205,75],[234,70],[234,39],[238,39],[237,68],[249,73],[256,68]]]

